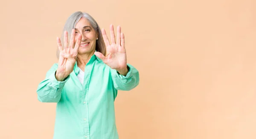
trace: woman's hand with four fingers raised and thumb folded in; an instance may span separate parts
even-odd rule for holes
[[[75,30],[73,29],[70,36],[70,45],[68,46],[67,31],[64,31],[64,48],[62,48],[61,40],[59,37],[57,37],[58,49],[60,50],[58,69],[55,73],[55,78],[57,81],[64,81],[64,79],[67,78],[67,76],[73,71],[76,64],[81,38],[81,34],[79,34],[75,44]]]

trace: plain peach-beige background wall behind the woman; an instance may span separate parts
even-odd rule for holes
[[[36,89],[75,11],[121,25],[140,71],[115,101],[120,139],[256,139],[255,0],[1,0],[0,139],[52,139]]]

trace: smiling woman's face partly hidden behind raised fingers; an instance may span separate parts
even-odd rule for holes
[[[78,50],[78,54],[90,54],[94,53],[96,49],[96,39],[98,38],[98,33],[90,25],[90,22],[84,17],[82,17],[75,27],[75,42],[78,39],[78,35],[82,35],[81,44]]]

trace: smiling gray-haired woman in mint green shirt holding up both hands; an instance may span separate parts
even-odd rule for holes
[[[58,64],[53,64],[37,89],[39,101],[57,103],[53,139],[119,138],[114,111],[117,90],[134,89],[139,72],[127,64],[121,27],[116,39],[113,25],[110,33],[111,44],[105,30],[86,13],[76,12],[67,19],[64,34],[57,38]]]

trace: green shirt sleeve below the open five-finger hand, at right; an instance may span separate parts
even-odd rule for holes
[[[116,69],[111,69],[113,85],[117,90],[129,91],[138,86],[140,82],[139,71],[131,64],[127,64],[128,73],[126,76],[120,75]]]

